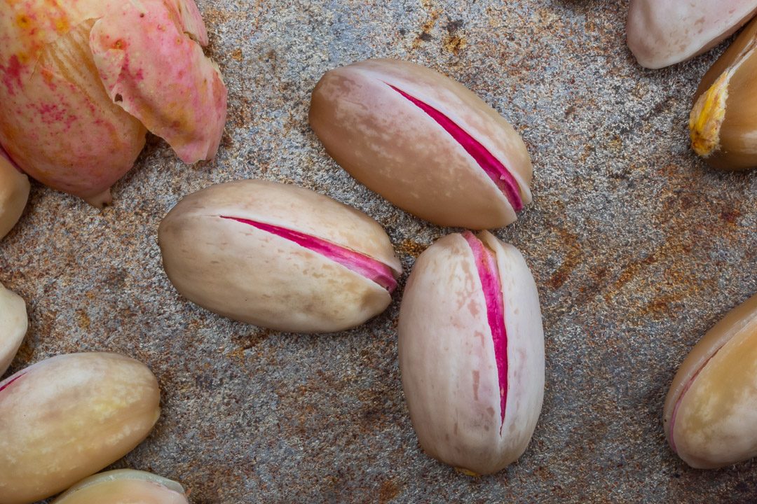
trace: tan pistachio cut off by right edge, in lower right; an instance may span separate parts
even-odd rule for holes
[[[757,295],[687,355],[665,399],[665,436],[693,468],[757,455]]]

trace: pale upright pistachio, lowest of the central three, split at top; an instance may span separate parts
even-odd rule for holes
[[[466,231],[426,249],[400,306],[399,354],[426,453],[477,475],[522,455],[544,397],[544,329],[515,247]]]

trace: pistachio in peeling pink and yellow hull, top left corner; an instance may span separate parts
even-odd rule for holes
[[[0,145],[33,178],[111,201],[147,130],[212,159],[226,87],[193,0],[0,2]]]

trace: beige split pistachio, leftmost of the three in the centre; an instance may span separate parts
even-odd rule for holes
[[[236,181],[186,196],[160,223],[166,273],[190,301],[257,326],[332,332],[391,302],[402,267],[382,227],[311,190]]]

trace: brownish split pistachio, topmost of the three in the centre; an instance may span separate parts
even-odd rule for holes
[[[327,72],[310,125],[350,175],[400,209],[443,226],[487,229],[531,202],[518,133],[459,82],[401,60]]]

